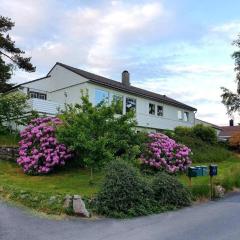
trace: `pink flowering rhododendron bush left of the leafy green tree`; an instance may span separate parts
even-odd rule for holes
[[[20,133],[18,164],[28,174],[46,174],[65,165],[71,153],[57,142],[56,127],[62,122],[56,117],[36,118]]]

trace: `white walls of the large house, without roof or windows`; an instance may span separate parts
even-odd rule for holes
[[[84,77],[81,77],[59,65],[56,65],[49,73],[51,77],[32,83],[24,84],[24,87],[30,89],[39,89],[47,92],[47,100],[64,103],[80,103],[81,90],[88,91],[89,99],[95,103],[95,90],[100,89],[108,91],[110,96],[113,94],[121,95],[123,101],[123,113],[125,113],[126,97],[131,97],[137,100],[136,118],[139,127],[144,127],[147,131],[155,131],[156,129],[170,129],[173,130],[176,126],[191,127],[195,122],[195,113],[186,109],[181,109],[165,103],[150,101],[148,99],[137,97],[124,92],[115,91],[113,89],[105,88],[88,82]],[[164,115],[162,117],[149,114],[149,103],[156,106],[162,105]],[[178,120],[178,110],[189,112],[189,121]]]

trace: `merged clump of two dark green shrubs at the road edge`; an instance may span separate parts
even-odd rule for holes
[[[163,212],[191,204],[190,193],[174,176],[161,173],[144,178],[123,160],[111,162],[94,201],[98,214],[134,217]]]

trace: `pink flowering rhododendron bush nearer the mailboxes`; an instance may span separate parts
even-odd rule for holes
[[[185,171],[192,163],[191,149],[161,133],[149,134],[149,143],[141,156],[143,164],[169,173]]]

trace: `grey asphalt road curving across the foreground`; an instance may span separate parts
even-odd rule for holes
[[[50,220],[0,202],[1,240],[239,240],[240,194],[131,220]]]

